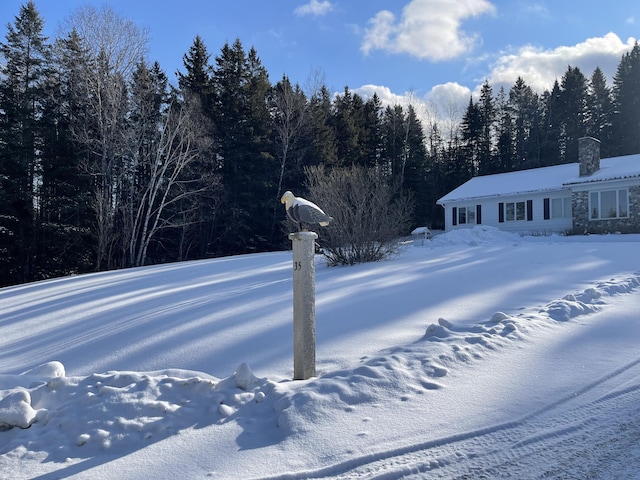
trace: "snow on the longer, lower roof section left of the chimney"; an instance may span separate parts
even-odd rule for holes
[[[577,177],[577,163],[532,168],[517,172],[497,173],[474,177],[449,192],[436,203],[471,200],[480,197],[501,197],[520,193],[566,189],[567,178]]]

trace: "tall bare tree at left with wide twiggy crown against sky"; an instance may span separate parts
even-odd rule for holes
[[[113,267],[114,218],[123,198],[121,161],[126,147],[127,81],[144,57],[148,34],[110,7],[85,6],[67,19],[64,28],[75,32],[87,52],[83,79],[89,112],[87,121],[74,125],[76,138],[86,146],[87,174],[94,181],[96,270]]]

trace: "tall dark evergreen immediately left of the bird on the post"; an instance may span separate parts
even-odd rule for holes
[[[273,240],[272,202],[277,201],[277,163],[267,108],[271,89],[252,48],[236,39],[216,57],[215,123],[228,207],[222,253],[261,251]]]

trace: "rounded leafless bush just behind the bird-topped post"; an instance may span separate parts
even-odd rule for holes
[[[413,211],[410,195],[375,168],[305,170],[309,197],[333,217],[319,243],[329,265],[375,262],[399,251]]]

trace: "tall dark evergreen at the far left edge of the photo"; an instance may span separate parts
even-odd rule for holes
[[[35,278],[36,184],[50,46],[34,2],[20,8],[0,43],[0,283]]]

